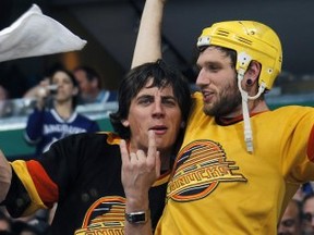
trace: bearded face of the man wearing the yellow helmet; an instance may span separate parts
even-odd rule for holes
[[[204,112],[213,116],[237,114],[241,107],[241,94],[230,57],[217,47],[207,47],[200,53],[197,66],[196,85],[204,97]]]

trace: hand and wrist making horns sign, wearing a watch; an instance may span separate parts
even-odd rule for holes
[[[129,152],[125,141],[120,144],[122,158],[122,184],[126,197],[125,213],[146,214],[147,221],[130,223],[125,220],[125,235],[152,235],[148,190],[160,175],[160,158],[156,149],[155,134],[148,133],[148,151]]]

